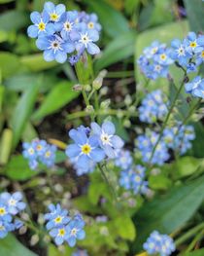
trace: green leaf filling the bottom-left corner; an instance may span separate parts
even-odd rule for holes
[[[9,234],[6,238],[0,239],[0,255],[2,256],[38,256],[20,243],[14,235]]]

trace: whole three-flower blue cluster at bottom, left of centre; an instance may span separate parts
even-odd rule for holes
[[[57,245],[67,242],[71,247],[75,246],[77,239],[85,238],[85,221],[80,214],[70,217],[66,209],[61,208],[60,204],[50,204],[50,213],[45,214],[48,221],[46,228],[50,231],[51,238]]]

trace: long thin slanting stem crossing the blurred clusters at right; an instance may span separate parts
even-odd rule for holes
[[[170,116],[171,116],[172,110],[173,110],[173,108],[174,108],[175,105],[176,105],[177,99],[178,99],[178,97],[179,97],[180,92],[181,92],[182,89],[183,89],[184,84],[185,84],[185,82],[183,81],[183,83],[181,84],[179,90],[177,91],[177,93],[176,93],[176,95],[175,95],[175,97],[174,97],[174,100],[173,100],[172,103],[171,103],[171,106],[170,106],[170,109],[169,109],[168,114],[167,114],[167,116],[166,116],[166,119],[165,119],[165,121],[164,121],[164,123],[163,123],[163,126],[162,126],[161,130],[160,130],[160,134],[159,134],[159,136],[158,136],[158,138],[157,138],[157,141],[156,141],[156,143],[155,143],[155,145],[154,145],[154,147],[153,147],[153,152],[152,152],[152,155],[151,155],[151,158],[150,158],[150,161],[149,161],[149,165],[151,164],[151,162],[152,162],[152,160],[153,160],[153,155],[154,155],[154,153],[155,153],[156,147],[157,147],[158,143],[159,143],[160,140],[161,140],[161,137],[162,137],[162,135],[163,135],[163,130],[164,130],[164,128],[166,128],[166,126],[167,126],[167,123],[168,123],[169,118],[170,118]]]

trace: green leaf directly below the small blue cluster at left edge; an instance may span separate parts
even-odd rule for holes
[[[27,180],[38,174],[37,171],[31,170],[28,161],[22,156],[14,156],[3,169],[4,174],[12,180]]]

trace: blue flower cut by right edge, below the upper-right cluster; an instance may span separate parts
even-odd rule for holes
[[[204,98],[204,79],[200,76],[195,77],[185,85],[185,89],[187,93],[191,93],[195,97]]]

